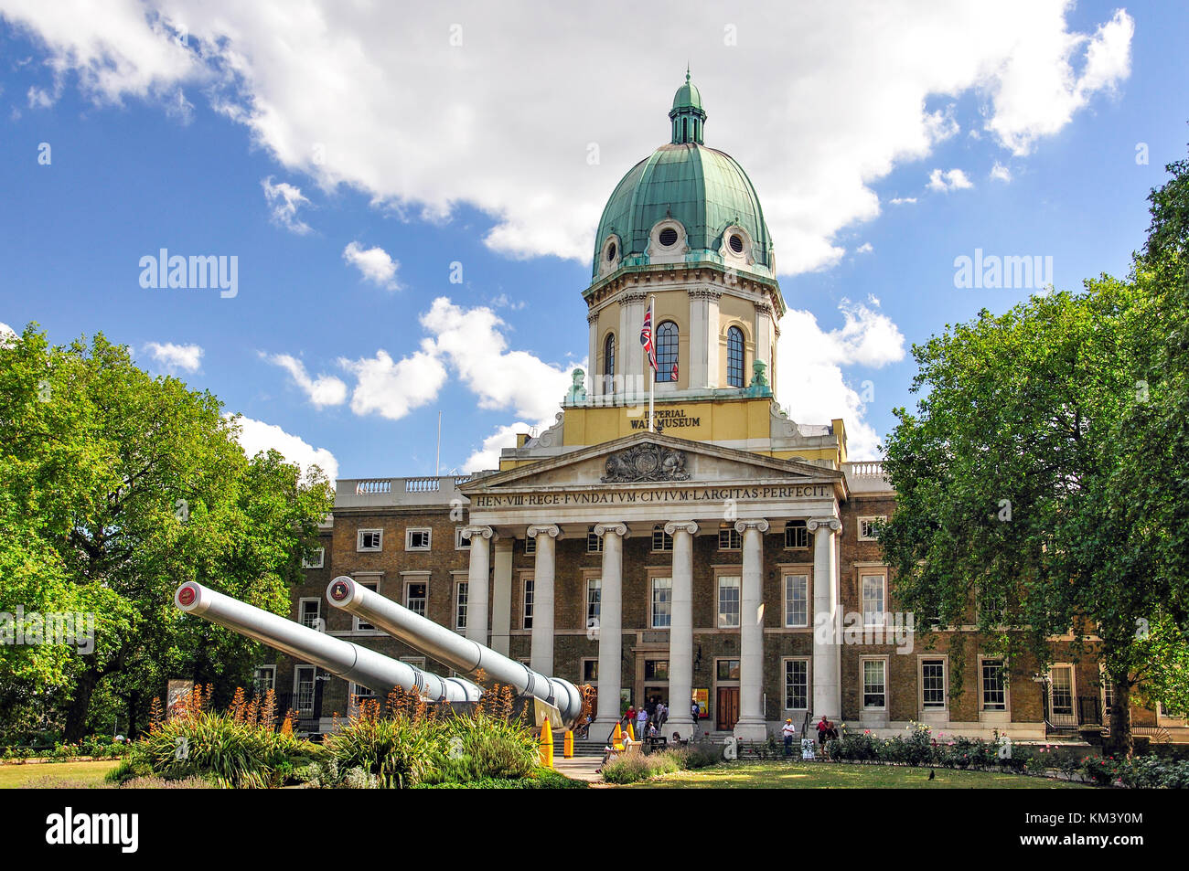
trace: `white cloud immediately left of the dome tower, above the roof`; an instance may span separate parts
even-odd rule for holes
[[[435,353],[449,360],[479,398],[480,409],[508,409],[517,417],[553,422],[571,384],[568,371],[526,351],[508,351],[499,329],[507,324],[491,309],[463,309],[439,297],[421,316],[421,326],[434,336],[427,341]]]

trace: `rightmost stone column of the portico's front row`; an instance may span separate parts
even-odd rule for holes
[[[819,517],[805,525],[813,534],[813,719],[825,714],[837,721],[842,719],[842,614],[833,536],[842,523]]]

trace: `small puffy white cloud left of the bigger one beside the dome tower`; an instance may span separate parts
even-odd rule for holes
[[[446,367],[432,349],[394,361],[382,348],[375,356],[340,359],[339,365],[356,375],[351,410],[360,416],[379,415],[398,421],[436,399],[446,383]]]

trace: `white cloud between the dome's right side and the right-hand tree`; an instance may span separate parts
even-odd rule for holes
[[[798,423],[829,423],[841,417],[847,423],[849,456],[855,460],[877,455],[880,436],[866,421],[866,400],[874,398],[874,385],[853,386],[843,366],[879,368],[904,359],[904,335],[887,315],[870,305],[843,299],[838,310],[843,326],[823,330],[809,311],[791,310],[781,321],[778,351],[778,400]]]

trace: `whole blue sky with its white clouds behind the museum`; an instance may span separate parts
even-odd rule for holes
[[[912,402],[911,343],[1030,292],[955,288],[955,258],[1125,273],[1189,140],[1181,5],[707,6],[677,33],[661,7],[621,38],[559,10],[268,7],[0,0],[0,323],[101,330],[344,478],[432,474],[439,411],[443,472],[552,419],[598,213],[687,59],[775,240],[780,400],[845,417],[855,459]],[[235,255],[237,295],[141,288],[161,248]]]

